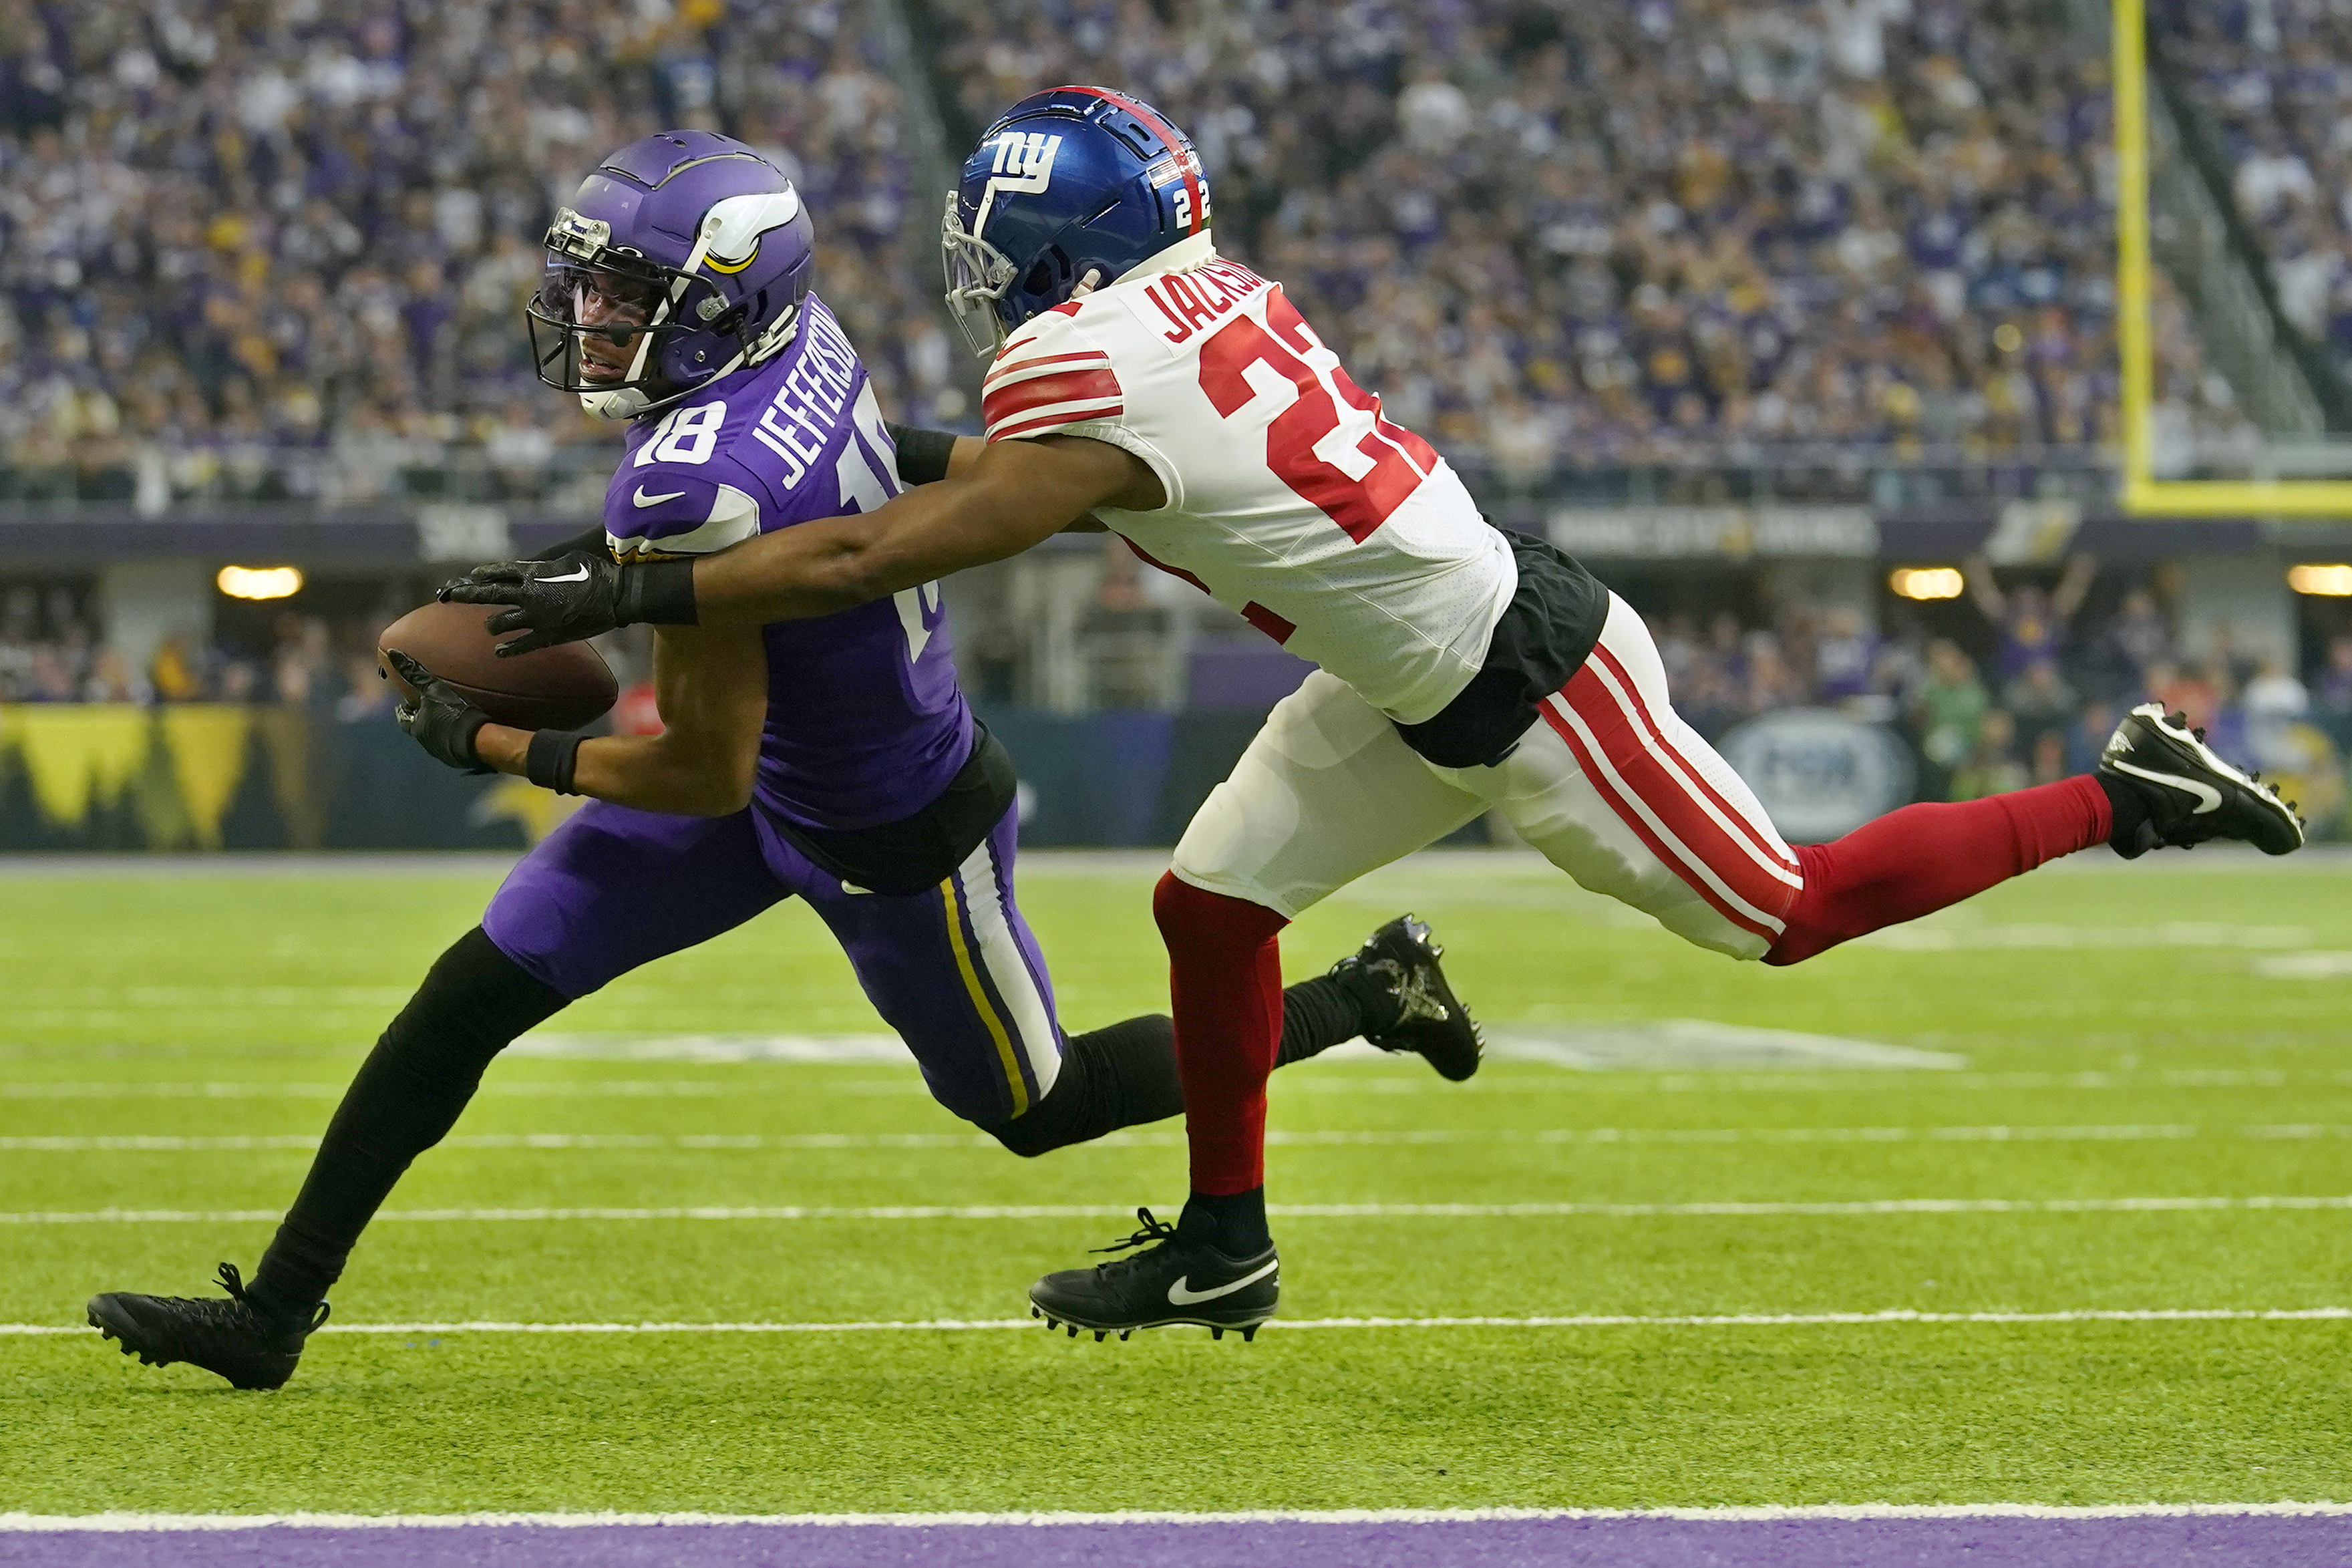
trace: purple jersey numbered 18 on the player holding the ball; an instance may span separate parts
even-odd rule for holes
[[[708,555],[901,489],[866,367],[811,294],[793,343],[628,428],[604,491],[619,559]],[[873,827],[929,806],[971,755],[938,583],[767,642],[767,726],[753,802],[807,827]]]

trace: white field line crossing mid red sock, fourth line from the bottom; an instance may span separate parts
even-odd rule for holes
[[[1708,1145],[1708,1143],[2178,1143],[2190,1138],[2251,1138],[2310,1143],[2352,1138],[2352,1126],[2321,1121],[2194,1126],[2178,1121],[2124,1126],[1555,1126],[1555,1128],[1378,1128],[1270,1131],[1277,1147],[1421,1147],[1421,1145]],[[0,1154],[249,1154],[318,1147],[315,1133],[273,1135],[56,1135],[0,1138]],[[445,1150],[997,1150],[988,1133],[461,1133]],[[1108,1133],[1101,1150],[1174,1150],[1183,1133]]]

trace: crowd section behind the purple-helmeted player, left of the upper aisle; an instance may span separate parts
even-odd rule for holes
[[[449,447],[534,491],[616,440],[532,381],[536,237],[713,122],[807,190],[880,390],[960,411],[858,0],[0,0],[0,496],[350,501]]]

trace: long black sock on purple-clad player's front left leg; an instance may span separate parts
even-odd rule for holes
[[[310,1175],[254,1269],[275,1316],[308,1316],[409,1161],[456,1124],[482,1070],[569,999],[541,985],[480,926],[433,961],[343,1093]]]

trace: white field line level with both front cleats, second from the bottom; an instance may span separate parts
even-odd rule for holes
[[[2352,1307],[2082,1307],[2072,1312],[1726,1312],[1691,1316],[1277,1316],[1268,1328],[1870,1328],[1879,1324],[2338,1324]],[[1037,1328],[1028,1316],[877,1319],[866,1324],[327,1324],[318,1333],[983,1333]],[[0,1324],[0,1338],[87,1335],[82,1324]]]

